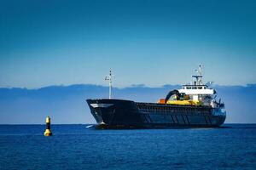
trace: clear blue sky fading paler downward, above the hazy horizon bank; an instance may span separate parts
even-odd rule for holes
[[[256,82],[256,1],[0,2],[0,87]]]

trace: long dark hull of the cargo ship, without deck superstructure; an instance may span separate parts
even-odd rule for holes
[[[87,99],[99,128],[219,127],[223,115],[212,107],[138,103],[123,99]]]

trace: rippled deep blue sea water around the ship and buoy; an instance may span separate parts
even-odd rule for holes
[[[0,169],[256,169],[256,124],[96,130],[0,126]]]

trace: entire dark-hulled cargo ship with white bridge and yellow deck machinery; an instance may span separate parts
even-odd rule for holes
[[[224,103],[217,92],[202,82],[201,65],[193,82],[173,89],[158,102],[112,99],[112,73],[109,99],[87,99],[98,128],[220,127],[226,118]]]

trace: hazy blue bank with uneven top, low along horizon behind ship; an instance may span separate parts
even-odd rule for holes
[[[177,85],[148,88],[134,85],[113,88],[113,97],[156,102],[165,98]],[[224,101],[226,122],[256,123],[256,84],[247,86],[215,86]],[[108,98],[108,87],[92,84],[49,86],[38,89],[0,88],[1,124],[43,124],[46,116],[53,123],[95,123],[85,99]]]

